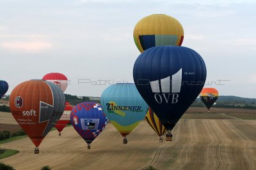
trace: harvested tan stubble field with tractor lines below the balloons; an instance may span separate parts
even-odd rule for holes
[[[20,150],[4,163],[19,169],[38,169],[49,164],[55,169],[255,169],[256,120],[180,120],[173,129],[172,142],[159,138],[145,121],[122,144],[122,136],[113,125],[87,150],[86,143],[73,127],[63,135],[52,131],[34,155],[31,141],[20,139],[1,145]]]

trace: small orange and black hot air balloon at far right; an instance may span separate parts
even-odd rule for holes
[[[209,112],[212,104],[214,104],[215,101],[218,99],[219,92],[214,88],[204,88],[202,92],[200,92],[199,96],[201,101],[204,102]]]

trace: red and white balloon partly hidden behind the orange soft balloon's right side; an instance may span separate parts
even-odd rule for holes
[[[71,106],[70,103],[65,103],[65,109],[64,113],[62,114],[60,120],[56,123],[55,127],[59,132],[59,136],[61,136],[61,131],[64,129],[64,127],[70,122],[70,112],[72,110],[73,106]]]

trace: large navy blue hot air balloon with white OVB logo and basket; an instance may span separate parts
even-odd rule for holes
[[[202,57],[184,46],[155,46],[145,50],[133,67],[135,85],[168,130],[172,129],[204,87]]]

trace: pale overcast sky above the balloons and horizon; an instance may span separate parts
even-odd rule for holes
[[[164,13],[182,24],[182,46],[203,57],[205,87],[255,98],[255,9],[254,0],[0,0],[0,80],[10,94],[22,81],[59,72],[70,80],[66,94],[100,96],[110,83],[133,82],[134,26]]]

